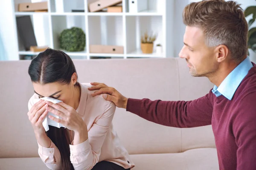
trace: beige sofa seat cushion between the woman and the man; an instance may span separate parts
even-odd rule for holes
[[[131,155],[132,170],[219,170],[217,150],[198,148],[183,153]]]

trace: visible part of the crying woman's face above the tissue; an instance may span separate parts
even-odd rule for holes
[[[32,84],[34,86],[34,91],[38,94],[39,98],[52,97],[69,105],[74,96],[74,82],[76,82],[76,75],[74,76],[73,74],[70,84],[63,85],[59,82],[47,83],[44,85],[32,82]]]

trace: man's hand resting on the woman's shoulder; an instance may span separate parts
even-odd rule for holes
[[[120,94],[116,89],[99,82],[91,82],[90,84],[93,86],[88,88],[89,90],[97,90],[92,94],[92,96],[104,94],[104,99],[113,102],[118,108],[126,109],[128,98]]]

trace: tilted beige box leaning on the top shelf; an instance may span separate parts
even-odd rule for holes
[[[122,0],[98,0],[94,3],[89,4],[89,11],[96,12],[101,11],[109,6],[114,6],[116,4],[122,3]]]

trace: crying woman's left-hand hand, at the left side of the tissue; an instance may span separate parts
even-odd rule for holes
[[[42,134],[45,134],[45,129],[42,123],[48,113],[46,107],[47,104],[43,100],[40,100],[36,102],[28,112],[29,121],[34,128],[36,136],[41,136]]]

